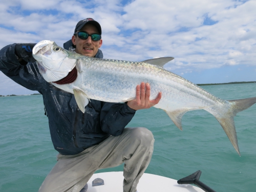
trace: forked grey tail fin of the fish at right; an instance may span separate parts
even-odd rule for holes
[[[231,104],[231,107],[227,112],[227,114],[224,114],[224,116],[220,118],[216,117],[216,119],[219,121],[223,130],[226,132],[229,140],[231,141],[233,147],[240,155],[239,147],[238,147],[237,132],[236,132],[236,127],[234,126],[233,117],[236,116],[238,112],[246,110],[251,105],[256,103],[256,97],[252,97],[248,99],[228,100],[228,102]]]

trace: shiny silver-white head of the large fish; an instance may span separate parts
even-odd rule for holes
[[[74,69],[77,60],[69,58],[68,51],[51,40],[38,42],[33,48],[32,55],[37,60],[40,74],[48,82],[66,77]]]

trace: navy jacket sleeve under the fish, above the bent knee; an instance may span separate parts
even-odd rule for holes
[[[102,131],[113,136],[121,135],[124,127],[132,120],[135,112],[126,103],[103,102],[100,113]]]

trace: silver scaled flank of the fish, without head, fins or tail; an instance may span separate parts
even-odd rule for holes
[[[91,57],[81,58],[80,62],[82,73],[78,74],[78,78],[82,79],[82,82],[76,81],[75,86],[79,83],[79,87],[92,99],[107,102],[131,100],[135,98],[136,86],[141,82],[148,82],[151,84],[151,99],[162,92],[162,99],[156,108],[166,111],[180,109],[181,105],[186,109],[211,106],[207,110],[211,111],[215,110],[216,104],[221,105],[221,108],[226,104],[224,100],[190,81],[145,62]]]

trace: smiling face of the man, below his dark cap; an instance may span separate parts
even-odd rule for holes
[[[89,35],[93,33],[99,34],[97,28],[91,24],[83,26],[83,28],[79,31],[87,32]],[[90,36],[87,39],[80,39],[78,36],[73,35],[72,42],[76,46],[77,53],[89,57],[95,57],[96,53],[98,52],[98,49],[102,45],[102,39],[94,41]]]

